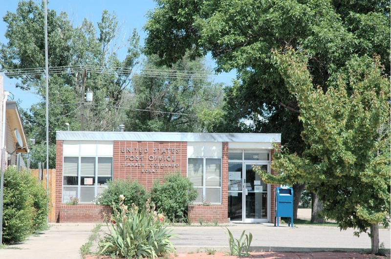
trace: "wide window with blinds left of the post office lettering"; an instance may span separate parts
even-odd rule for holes
[[[63,171],[63,202],[92,202],[111,180],[112,157],[64,157]]]

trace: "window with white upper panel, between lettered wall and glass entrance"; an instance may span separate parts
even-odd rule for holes
[[[220,142],[188,142],[187,177],[198,192],[195,203],[221,203]]]

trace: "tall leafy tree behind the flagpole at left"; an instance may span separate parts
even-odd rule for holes
[[[15,13],[7,12],[6,44],[0,45],[1,69],[10,78],[20,79],[24,90],[42,97],[29,111],[21,111],[26,134],[36,139],[31,147],[32,164],[37,166],[45,144],[45,80],[44,59],[44,3],[21,1]],[[88,123],[85,130],[112,131],[123,123],[125,112],[116,108],[129,101],[131,70],[140,56],[139,37],[135,30],[125,38],[115,14],[103,11],[97,29],[92,22],[74,26],[66,13],[48,10],[49,68],[49,138],[55,144],[55,131],[80,130],[82,113]],[[125,40],[121,40],[125,39]],[[123,60],[118,50],[126,47]],[[119,68],[121,67],[121,68]],[[15,70],[16,69],[16,70]],[[50,69],[49,69],[50,70]],[[85,84],[85,85],[84,85]],[[82,97],[85,90],[94,92],[94,100],[87,104]],[[50,149],[50,167],[55,165],[54,149]]]

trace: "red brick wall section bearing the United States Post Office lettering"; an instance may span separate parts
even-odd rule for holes
[[[128,148],[131,152],[128,152]],[[145,148],[147,148],[148,151]],[[125,159],[125,156],[128,156],[127,159]],[[133,157],[130,158],[130,156]],[[138,156],[138,161],[136,161],[136,156]],[[143,156],[143,158],[141,158],[141,156]],[[150,160],[151,156],[153,157],[153,160]],[[172,161],[173,156],[175,157],[175,161]],[[159,160],[160,157],[162,158],[161,161]],[[164,161],[164,158],[168,158],[170,161]],[[181,172],[182,176],[186,177],[187,142],[114,141],[113,160],[113,179],[137,180],[137,182],[141,183],[149,190],[155,179],[162,180],[167,174]],[[137,166],[124,166],[124,163],[126,165],[131,164]],[[162,163],[164,164],[163,167],[161,167]],[[152,167],[151,164],[153,165]],[[157,167],[155,167],[155,164]],[[171,166],[174,164],[174,167],[169,167],[170,164]],[[157,170],[157,172],[146,173],[144,171],[143,173],[142,170]]]

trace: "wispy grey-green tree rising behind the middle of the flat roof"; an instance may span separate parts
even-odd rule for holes
[[[206,68],[204,59],[197,58],[192,61],[188,56],[184,56],[171,68],[157,66],[157,62],[156,55],[148,56],[143,64],[142,73],[152,75],[133,76],[134,100],[130,106],[132,109],[127,113],[127,129],[162,132],[202,131],[198,115],[204,110],[221,110],[222,84],[213,83],[208,79],[210,71]],[[160,69],[160,72],[156,72],[156,69]]]

